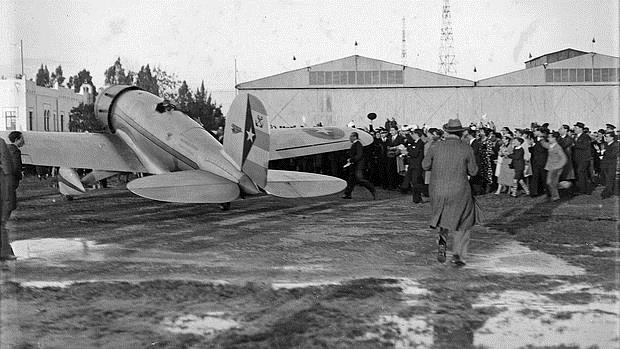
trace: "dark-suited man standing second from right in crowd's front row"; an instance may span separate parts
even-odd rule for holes
[[[574,125],[575,146],[573,147],[573,162],[575,165],[575,176],[577,177],[576,194],[592,194],[592,140],[584,132],[585,125],[578,122]]]

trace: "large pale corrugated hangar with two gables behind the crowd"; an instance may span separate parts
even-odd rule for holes
[[[619,58],[565,49],[525,62],[525,69],[477,82],[362,56],[350,56],[241,83],[258,96],[276,126],[441,126],[458,116],[498,126],[582,121],[590,128],[618,124]]]

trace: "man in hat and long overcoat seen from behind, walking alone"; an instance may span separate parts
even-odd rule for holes
[[[465,128],[459,119],[450,119],[443,126],[445,140],[432,146],[422,168],[431,171],[429,194],[432,214],[430,226],[439,230],[437,260],[446,261],[448,235],[452,234],[452,262],[465,265],[470,229],[480,222],[479,212],[467,176],[478,173],[472,148],[461,141]]]

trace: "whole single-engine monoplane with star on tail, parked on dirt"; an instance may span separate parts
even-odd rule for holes
[[[285,198],[329,195],[343,190],[336,177],[269,170],[269,160],[348,149],[346,127],[271,129],[262,102],[240,94],[226,116],[220,144],[174,105],[136,86],[115,85],[95,103],[109,133],[23,131],[24,164],[59,167],[59,189],[85,193],[83,184],[117,173],[147,173],[127,184],[145,198],[182,203],[229,203],[270,194]],[[362,144],[372,137],[360,133]],[[8,132],[0,132],[7,139]],[[80,178],[76,168],[93,171]]]

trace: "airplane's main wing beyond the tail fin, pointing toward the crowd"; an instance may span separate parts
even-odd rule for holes
[[[368,133],[349,127],[300,127],[270,130],[269,160],[347,150],[349,135],[357,132],[362,145],[372,143]]]

